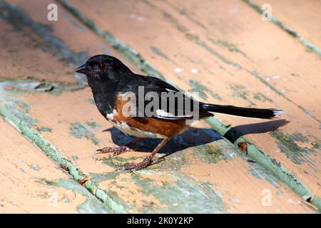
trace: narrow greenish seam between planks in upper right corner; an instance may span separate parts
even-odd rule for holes
[[[255,11],[258,11],[259,14],[263,14],[263,9],[261,9],[261,7],[255,4],[253,1],[251,0],[243,0],[243,1],[249,6],[251,6],[253,9],[255,9]],[[289,33],[290,36],[297,38],[304,46],[309,48],[311,51],[314,51],[315,53],[317,53],[317,55],[321,56],[321,49],[319,47],[317,47],[314,43],[308,41],[306,38],[301,36],[299,33],[297,33],[297,31],[293,30],[289,26],[285,26],[284,24],[282,24],[282,22],[279,19],[277,19],[275,16],[272,16],[271,22],[276,26],[282,28],[283,31]]]

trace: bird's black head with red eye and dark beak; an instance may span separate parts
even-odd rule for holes
[[[89,58],[85,64],[76,68],[75,72],[86,74],[91,80],[118,81],[119,77],[131,73],[131,70],[113,56],[98,55]]]

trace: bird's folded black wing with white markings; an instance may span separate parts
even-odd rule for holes
[[[203,108],[203,103],[190,98],[161,79],[140,75],[134,77],[133,83],[127,83],[122,92],[135,93],[136,117],[187,120],[195,118],[195,113],[198,113],[198,118],[213,115]]]

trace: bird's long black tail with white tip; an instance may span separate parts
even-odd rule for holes
[[[231,105],[204,104],[203,108],[210,113],[223,113],[228,115],[243,116],[247,118],[272,119],[281,115],[283,110],[275,108],[241,108]]]

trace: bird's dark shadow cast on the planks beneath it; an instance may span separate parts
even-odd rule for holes
[[[230,128],[224,137],[228,138],[231,142],[235,142],[238,138],[243,135],[255,134],[255,133],[266,133],[277,130],[283,125],[289,123],[286,120],[272,120],[264,123],[253,123],[248,125],[238,125]],[[122,133],[117,128],[108,128],[103,131],[111,132],[111,139],[113,143],[122,146],[128,142],[135,140],[135,137],[128,136]],[[197,145],[204,145],[210,142],[215,142],[222,139],[222,136],[211,128],[189,128],[184,133],[172,138],[162,149],[161,153],[170,155],[179,150],[184,150],[188,147],[194,147]],[[146,138],[143,141],[137,143],[133,147],[141,152],[151,152],[161,142],[161,139]]]

